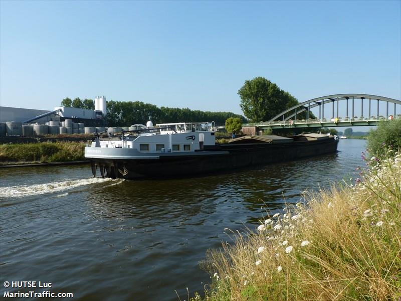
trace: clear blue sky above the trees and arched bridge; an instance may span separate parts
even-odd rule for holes
[[[0,2],[2,106],[105,95],[242,113],[256,76],[299,101],[401,99],[401,2]]]

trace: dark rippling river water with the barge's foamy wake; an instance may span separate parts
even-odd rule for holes
[[[364,140],[338,153],[226,175],[163,181],[91,178],[89,166],[0,169],[0,293],[181,300],[203,294],[199,268],[224,229],[255,229],[300,192],[355,177]],[[52,282],[6,289],[4,281]],[[37,283],[38,286],[38,283]],[[176,291],[176,292],[175,292]]]

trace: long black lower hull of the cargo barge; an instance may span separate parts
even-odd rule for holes
[[[200,150],[191,156],[177,153],[176,156],[160,156],[156,160],[89,159],[94,176],[99,169],[101,176],[111,178],[172,178],[226,172],[331,154],[336,152],[337,144],[338,141],[333,138],[289,144],[224,144],[209,150]]]

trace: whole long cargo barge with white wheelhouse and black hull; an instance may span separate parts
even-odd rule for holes
[[[214,122],[157,124],[122,131],[85,147],[92,174],[110,178],[171,178],[225,172],[334,153],[336,136],[247,135],[217,144]]]

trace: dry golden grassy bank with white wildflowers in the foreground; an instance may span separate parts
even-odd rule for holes
[[[213,279],[205,299],[401,298],[401,155],[368,163],[354,185],[304,192],[257,230],[228,232],[233,243],[205,262]]]

